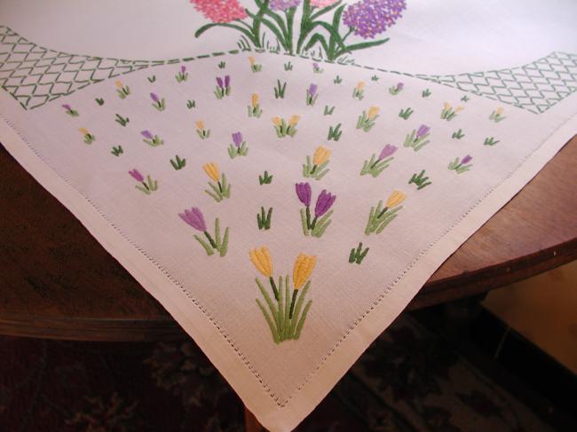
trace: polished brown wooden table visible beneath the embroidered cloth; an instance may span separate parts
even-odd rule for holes
[[[447,259],[409,308],[577,259],[577,137]],[[184,332],[58,200],[0,147],[0,334],[95,341]]]

